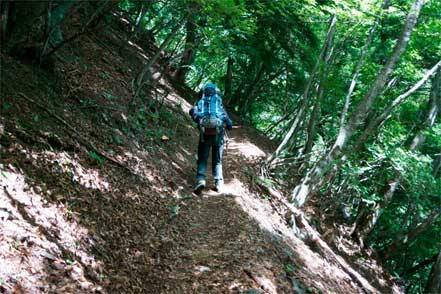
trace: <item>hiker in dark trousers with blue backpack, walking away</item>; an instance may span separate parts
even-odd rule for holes
[[[190,109],[190,116],[200,130],[197,160],[196,185],[193,192],[199,194],[206,186],[205,172],[208,155],[212,153],[212,172],[215,191],[221,192],[224,179],[222,176],[222,151],[224,147],[225,125],[227,130],[233,128],[223,105],[219,88],[216,84],[205,84],[198,95],[198,103]]]

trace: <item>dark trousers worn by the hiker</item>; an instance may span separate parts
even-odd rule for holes
[[[220,144],[221,143],[221,144]],[[207,160],[211,148],[211,168],[213,178],[216,183],[223,183],[222,176],[222,151],[224,145],[222,140],[218,140],[216,136],[204,136],[203,140],[199,140],[198,145],[198,173],[196,181],[205,180],[205,173],[207,171]]]

